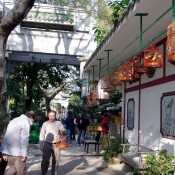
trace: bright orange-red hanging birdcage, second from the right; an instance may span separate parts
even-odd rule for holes
[[[162,51],[155,45],[144,51],[144,66],[147,68],[160,68],[163,66]]]

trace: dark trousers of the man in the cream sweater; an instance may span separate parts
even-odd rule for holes
[[[46,175],[50,158],[52,156],[52,166],[51,166],[51,175],[58,174],[58,166],[60,161],[61,150],[56,148],[54,144],[45,142],[43,148],[42,162],[41,162],[41,175]]]

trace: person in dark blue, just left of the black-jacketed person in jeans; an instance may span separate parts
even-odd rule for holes
[[[66,131],[67,131],[67,134],[68,134],[69,146],[71,146],[72,145],[72,134],[75,131],[74,118],[72,116],[71,111],[68,112],[68,116],[66,118],[65,124],[66,124]]]

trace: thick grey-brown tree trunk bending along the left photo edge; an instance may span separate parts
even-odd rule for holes
[[[5,49],[7,39],[11,31],[26,17],[30,9],[33,7],[35,0],[20,0],[13,9],[2,18],[0,23],[0,106],[5,108]]]

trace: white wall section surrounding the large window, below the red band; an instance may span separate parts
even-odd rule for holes
[[[160,133],[161,97],[165,92],[175,91],[174,87],[175,81],[146,88],[141,91],[141,145],[145,145],[153,149],[167,149],[169,151],[173,151],[174,153],[175,140],[162,138]]]

